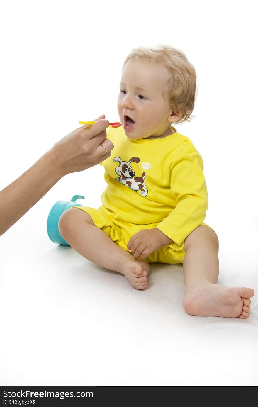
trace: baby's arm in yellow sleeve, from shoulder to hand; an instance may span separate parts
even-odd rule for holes
[[[195,149],[171,166],[171,194],[177,203],[175,209],[154,229],[141,230],[129,240],[127,249],[134,258],[145,259],[172,242],[180,245],[203,222],[208,195],[202,158]]]

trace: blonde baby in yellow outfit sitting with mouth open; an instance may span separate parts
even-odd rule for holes
[[[183,263],[186,313],[244,319],[254,290],[217,284],[218,237],[203,223],[203,161],[172,126],[192,119],[195,96],[195,69],[184,53],[163,45],[133,49],[122,68],[122,126],[107,129],[114,149],[101,163],[103,205],[66,210],[59,231],[82,256],[139,290],[147,287],[149,263]]]

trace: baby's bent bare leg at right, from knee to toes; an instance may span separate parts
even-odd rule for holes
[[[187,236],[184,249],[184,310],[191,315],[247,318],[254,290],[217,284],[219,242],[216,233],[201,225]]]

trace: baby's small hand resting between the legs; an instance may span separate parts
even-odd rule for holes
[[[160,229],[144,229],[133,234],[127,243],[127,249],[131,250],[136,260],[138,260],[139,256],[144,260],[149,254],[172,242],[173,240],[169,239]]]

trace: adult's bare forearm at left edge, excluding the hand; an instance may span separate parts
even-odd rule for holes
[[[50,150],[0,191],[0,236],[44,197],[63,175]]]

